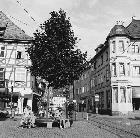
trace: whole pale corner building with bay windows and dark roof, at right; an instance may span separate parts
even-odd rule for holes
[[[126,114],[140,108],[140,20],[115,25],[91,60],[99,113]]]

